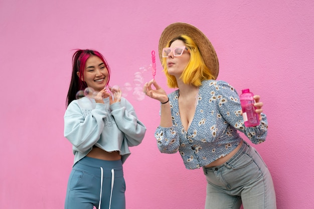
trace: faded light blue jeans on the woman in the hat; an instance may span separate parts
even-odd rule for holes
[[[269,170],[256,149],[243,141],[237,153],[215,167],[203,167],[207,179],[205,209],[275,209]]]

